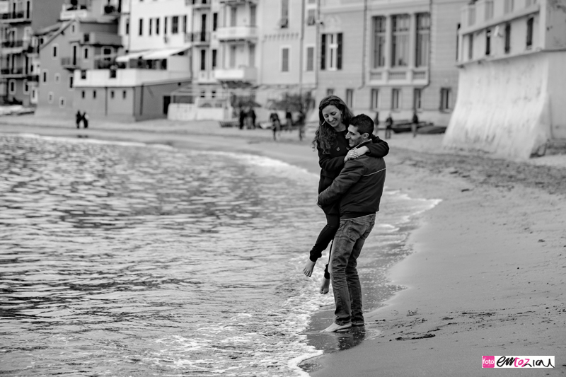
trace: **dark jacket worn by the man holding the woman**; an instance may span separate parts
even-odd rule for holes
[[[383,158],[360,156],[348,160],[332,185],[318,195],[318,204],[324,207],[340,200],[340,219],[375,214],[379,211],[385,173]]]

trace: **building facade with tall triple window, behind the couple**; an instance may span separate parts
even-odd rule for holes
[[[458,87],[456,33],[465,1],[320,1],[317,98],[355,113],[448,124]]]

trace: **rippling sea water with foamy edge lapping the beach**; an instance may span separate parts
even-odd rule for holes
[[[309,319],[333,304],[323,263],[301,271],[325,224],[316,187],[259,156],[0,136],[0,373],[306,375]],[[379,250],[434,204],[386,190],[375,286]]]

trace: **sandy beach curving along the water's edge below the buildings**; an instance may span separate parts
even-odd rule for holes
[[[269,130],[218,122],[75,129],[73,120],[22,116],[0,118],[0,132],[255,153],[320,171],[312,128],[306,140],[283,132],[275,142]],[[441,139],[388,140],[388,189],[441,202],[420,215],[408,241],[413,253],[390,271],[391,282],[406,289],[366,314],[366,327],[379,331],[357,347],[305,361],[311,376],[487,376],[483,355],[555,356],[555,369],[498,376],[566,374],[566,155],[507,161],[447,151]]]

